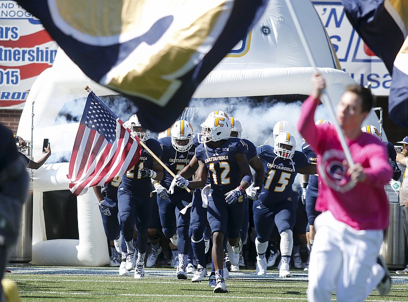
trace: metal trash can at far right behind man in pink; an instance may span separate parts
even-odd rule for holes
[[[400,187],[401,183],[394,180],[385,186],[390,205],[390,225],[384,232],[380,255],[390,268],[403,268],[406,265],[406,239],[399,205]]]

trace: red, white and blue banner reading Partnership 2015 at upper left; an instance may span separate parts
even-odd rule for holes
[[[39,20],[14,1],[0,1],[0,109],[22,109],[58,45]]]

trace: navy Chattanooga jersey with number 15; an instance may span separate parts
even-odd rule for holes
[[[264,186],[259,201],[271,205],[287,200],[292,196],[292,184],[298,170],[308,163],[308,159],[300,151],[295,151],[292,160],[278,157],[268,145],[258,147],[257,153],[265,169]]]

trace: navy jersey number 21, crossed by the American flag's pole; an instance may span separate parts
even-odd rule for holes
[[[162,156],[163,150],[160,143],[154,139],[144,142],[146,146],[158,157]],[[151,192],[150,177],[141,177],[139,170],[152,169],[153,157],[143,148],[139,161],[129,171],[123,174],[122,183],[119,188],[124,187],[137,195],[149,195]]]

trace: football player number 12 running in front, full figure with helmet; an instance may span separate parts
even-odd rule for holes
[[[213,233],[213,250],[216,286],[214,292],[227,292],[223,278],[224,236],[228,238],[233,253],[242,249],[240,229],[243,222],[245,189],[252,184],[252,174],[245,157],[246,144],[230,138],[231,122],[225,116],[214,115],[201,124],[201,142],[195,152],[198,170],[189,181],[178,175],[177,186],[202,188],[208,174],[211,189],[208,194],[207,217]],[[243,178],[241,178],[243,176]]]

